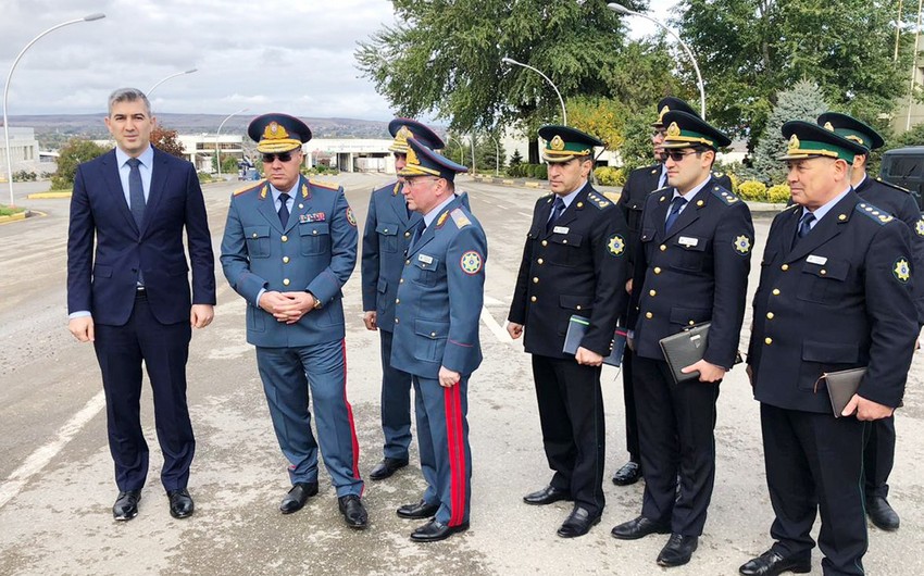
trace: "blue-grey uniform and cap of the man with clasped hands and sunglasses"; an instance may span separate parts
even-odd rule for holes
[[[266,115],[251,127],[270,121],[278,121],[278,128],[295,118]],[[341,293],[355,265],[355,220],[342,188],[299,176],[287,191],[292,196],[291,209],[282,224],[274,206],[278,192],[261,181],[234,193],[222,241],[222,267],[232,288],[247,301],[247,341],[257,347],[260,377],[292,484],[317,481],[310,387],[321,453],[337,496],[359,496],[363,483],[346,395]],[[269,290],[303,290],[319,304],[298,322],[286,324],[258,305]]]

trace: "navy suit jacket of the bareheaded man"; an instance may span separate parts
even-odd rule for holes
[[[189,265],[183,233],[189,243]],[[96,248],[96,251],[95,251]],[[115,150],[77,166],[67,234],[67,310],[121,326],[135,306],[138,271],[151,313],[163,324],[189,322],[192,303],[215,303],[215,260],[202,189],[192,164],[154,149],[145,222],[135,224]]]

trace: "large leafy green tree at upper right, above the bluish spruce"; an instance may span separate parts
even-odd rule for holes
[[[704,76],[707,120],[748,138],[753,150],[776,95],[802,79],[816,83],[828,102],[859,118],[888,113],[896,95],[903,93],[910,67],[910,50],[892,61],[892,4],[680,0],[676,24]]]

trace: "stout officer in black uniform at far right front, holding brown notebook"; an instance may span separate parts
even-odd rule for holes
[[[748,348],[776,542],[739,572],[810,572],[821,512],[824,573],[863,574],[864,428],[900,405],[916,338],[908,230],[851,189],[862,145],[808,122],[783,135],[795,204],[770,227]],[[833,414],[823,376],[856,367]]]

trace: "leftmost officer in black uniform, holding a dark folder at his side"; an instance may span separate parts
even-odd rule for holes
[[[622,213],[588,181],[597,138],[567,126],[544,126],[542,156],[552,193],[533,211],[507,331],[533,355],[542,446],[554,474],[527,504],[574,501],[558,530],[587,534],[600,522],[604,424],[600,372],[625,309],[626,238]],[[588,321],[575,354],[563,351],[572,315]]]

